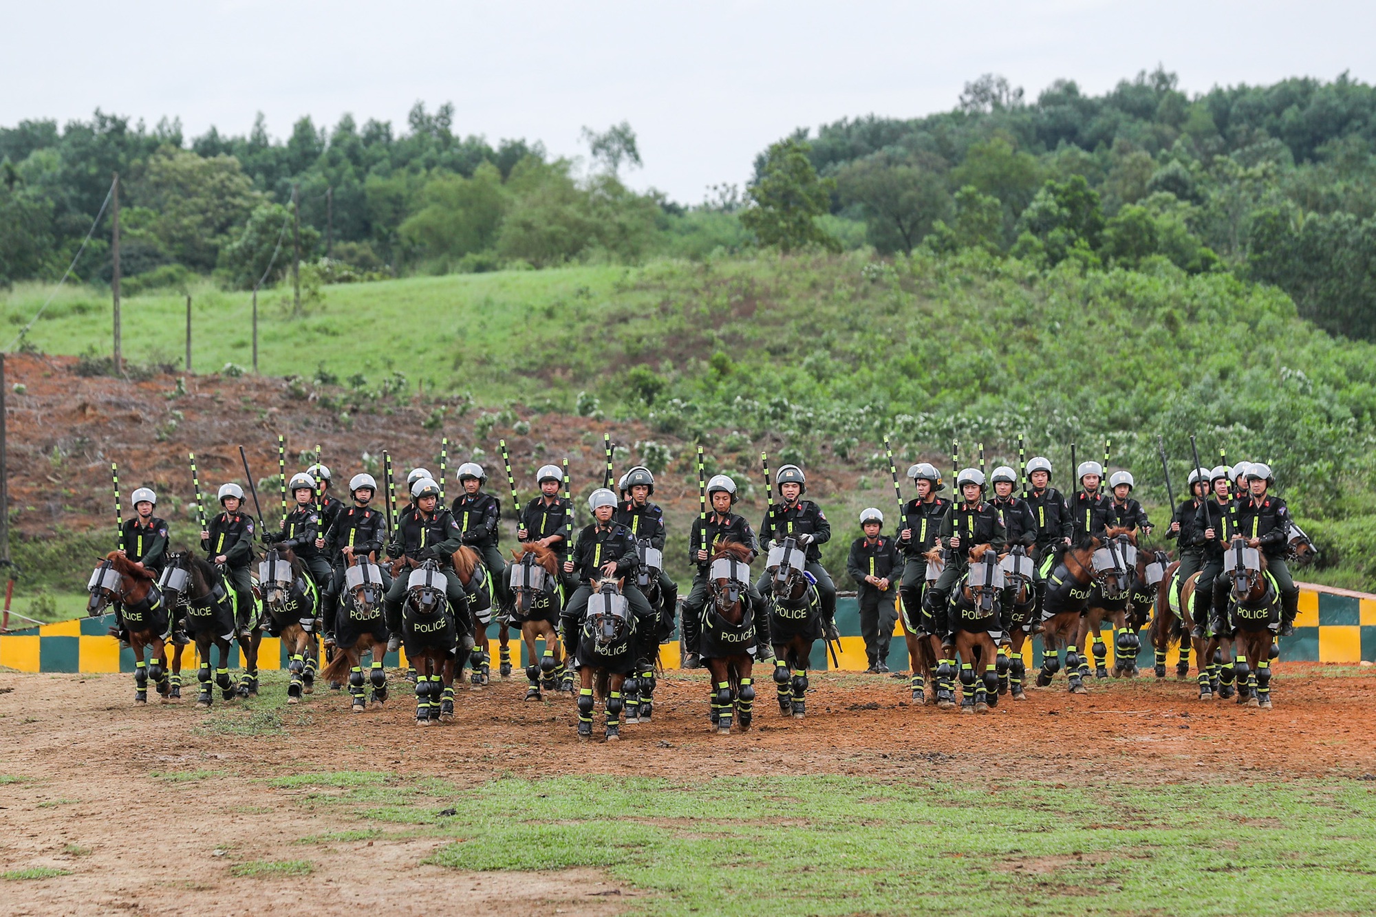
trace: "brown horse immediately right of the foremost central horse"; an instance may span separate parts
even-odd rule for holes
[[[758,626],[750,603],[750,545],[722,542],[709,566],[709,602],[702,611],[702,664],[711,673],[711,721],[720,735],[731,734],[739,715],[740,731],[750,728],[755,687]]]

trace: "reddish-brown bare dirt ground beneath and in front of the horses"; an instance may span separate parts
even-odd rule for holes
[[[768,673],[758,675],[766,690],[746,734],[710,732],[703,675],[671,672],[660,680],[654,721],[603,744],[577,739],[567,697],[523,702],[520,679],[460,687],[458,717],[443,727],[416,727],[403,687],[362,715],[351,715],[343,695],[319,691],[289,708],[285,734],[237,737],[198,728],[208,715],[190,699],[135,708],[128,675],[4,672],[0,775],[21,779],[0,786],[0,872],[50,866],[72,876],[0,881],[0,913],[257,914],[296,911],[305,900],[311,913],[607,914],[634,900],[633,888],[594,870],[460,874],[420,865],[442,843],[432,839],[332,844],[308,877],[231,877],[235,862],[319,854],[292,845],[303,836],[359,828],[327,807],[304,811],[293,804],[300,790],[264,781],[297,772],[385,770],[458,785],[545,775],[550,761],[684,779],[813,772],[926,781],[959,772],[991,782],[1142,785],[1376,772],[1372,669],[1280,664],[1270,712],[1196,701],[1190,683],[1141,679],[1095,683],[1088,697],[1069,695],[1062,680],[1025,702],[1004,698],[988,716],[915,708],[905,683],[892,677],[815,675],[802,721],[783,719]],[[226,772],[211,778],[209,807],[206,783],[154,775],[195,770]]]

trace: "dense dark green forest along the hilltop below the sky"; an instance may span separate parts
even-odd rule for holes
[[[303,117],[285,139],[261,120],[197,138],[102,112],[25,121],[0,128],[0,282],[56,280],[118,171],[131,292],[279,278],[294,187],[303,259],[325,284],[753,246],[982,249],[1042,270],[1229,271],[1332,332],[1376,337],[1376,91],[1346,74],[1192,95],[1159,69],[1098,96],[1057,81],[1035,101],[985,76],[949,112],[801,128],[761,153],[743,193],[691,207],[627,186],[629,125],[586,139],[586,164],[552,158],[462,135],[453,106],[420,103],[405,129]],[[106,237],[80,280],[110,277]]]

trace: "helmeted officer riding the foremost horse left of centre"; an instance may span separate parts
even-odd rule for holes
[[[621,593],[626,598],[630,613],[636,615],[637,643],[645,628],[655,626],[654,609],[634,580],[636,569],[640,566],[636,538],[632,537],[630,529],[612,520],[616,494],[607,487],[593,490],[588,497],[588,509],[593,514],[593,522],[578,533],[574,554],[564,562],[564,573],[572,574],[578,581],[578,588],[568,598],[560,615],[564,647],[570,658],[578,649],[578,629],[588,614],[588,599],[593,593],[593,584],[604,577],[622,580]]]

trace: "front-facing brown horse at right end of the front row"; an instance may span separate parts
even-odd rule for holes
[[[1234,540],[1223,555],[1223,576],[1229,580],[1223,633],[1215,640],[1232,642],[1237,702],[1271,709],[1271,640],[1281,624],[1281,596],[1266,571],[1266,555]],[[1214,649],[1214,640],[1210,642]],[[1225,657],[1229,658],[1229,657]],[[1225,671],[1226,671],[1225,665]],[[1223,697],[1223,693],[1219,693]]]

